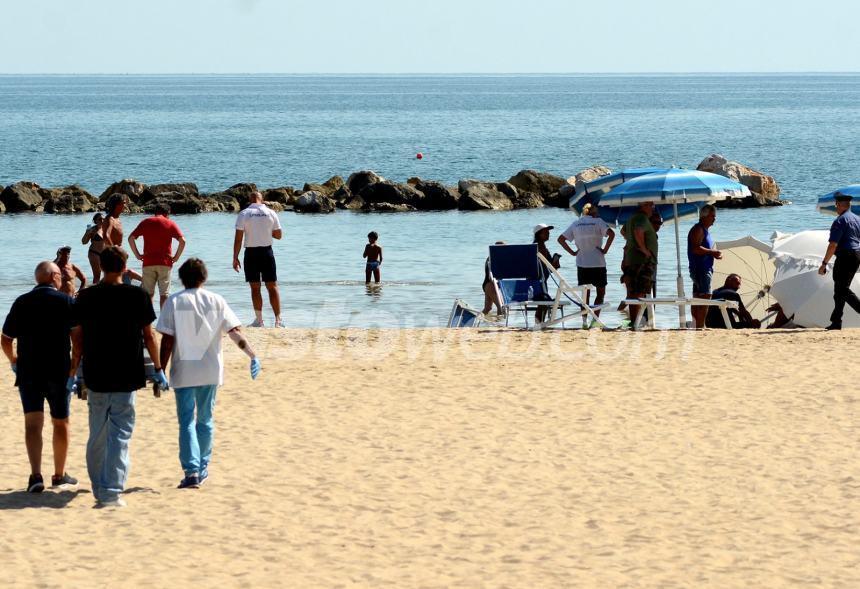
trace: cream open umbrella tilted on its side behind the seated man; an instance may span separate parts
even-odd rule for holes
[[[771,259],[771,246],[755,237],[747,236],[734,241],[716,244],[723,257],[714,260],[714,288],[720,288],[729,274],[741,277],[738,294],[754,319],[763,320],[767,308],[775,301],[771,295],[776,265]]]

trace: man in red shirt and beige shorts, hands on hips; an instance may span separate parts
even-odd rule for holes
[[[158,294],[161,305],[170,294],[170,270],[185,249],[185,237],[179,226],[168,219],[170,208],[159,204],[155,207],[155,215],[144,219],[128,236],[128,245],[134,257],[143,262],[143,289],[152,297],[155,295],[155,285],[158,284]],[[143,255],[137,249],[137,238],[143,237]],[[173,255],[173,240],[179,242],[176,255]]]

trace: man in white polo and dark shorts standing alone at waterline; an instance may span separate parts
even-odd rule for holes
[[[283,327],[281,323],[281,297],[278,293],[278,274],[275,264],[275,254],[272,251],[272,239],[281,238],[281,221],[278,215],[263,204],[263,195],[251,193],[251,204],[239,213],[236,219],[236,236],[233,239],[233,269],[238,272],[242,268],[239,262],[239,252],[242,250],[242,240],[245,242],[245,282],[251,286],[251,303],[254,306],[254,322],[250,327],[264,327],[263,295],[260,292],[261,283],[265,283],[269,292],[269,303],[275,312],[275,327]]]

